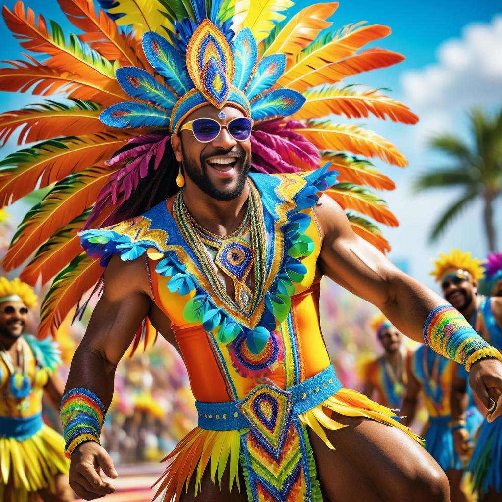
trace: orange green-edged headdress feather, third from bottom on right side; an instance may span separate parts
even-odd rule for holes
[[[339,152],[321,151],[321,164],[330,162],[330,169],[338,171],[337,181],[366,185],[376,190],[394,190],[394,181],[382,174],[367,160],[348,157]]]

